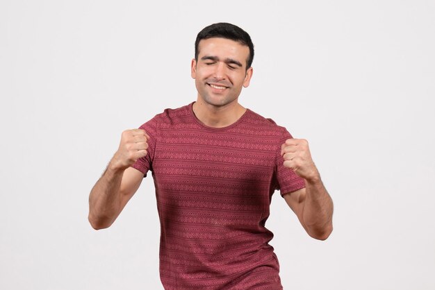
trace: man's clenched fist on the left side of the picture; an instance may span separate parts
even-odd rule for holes
[[[116,169],[127,169],[140,157],[147,155],[149,135],[142,129],[125,130],[120,147],[110,162]]]

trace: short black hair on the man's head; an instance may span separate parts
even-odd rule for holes
[[[242,28],[229,24],[229,23],[215,23],[207,26],[202,31],[199,31],[197,35],[197,40],[195,41],[195,60],[198,61],[198,46],[201,40],[206,40],[212,37],[226,38],[228,40],[234,40],[240,42],[245,46],[249,47],[249,57],[246,60],[246,69],[249,69],[252,65],[252,60],[254,60],[254,44],[252,43],[249,34]]]

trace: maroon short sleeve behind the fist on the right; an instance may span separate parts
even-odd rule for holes
[[[287,167],[284,167],[284,158],[281,156],[281,144],[286,142],[286,139],[293,138],[290,133],[284,128],[284,133],[279,140],[277,155],[275,157],[275,170],[277,176],[277,189],[281,192],[281,196],[289,192],[296,191],[305,187],[304,178],[300,178],[297,174]]]

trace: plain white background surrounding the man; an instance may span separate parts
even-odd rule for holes
[[[309,140],[334,199],[311,239],[275,194],[285,289],[435,289],[434,1],[0,2],[0,289],[161,289],[146,178],[107,230],[88,194],[122,130],[196,99],[197,33],[255,44],[240,103]]]

